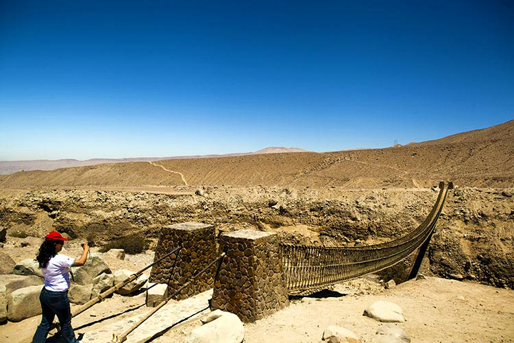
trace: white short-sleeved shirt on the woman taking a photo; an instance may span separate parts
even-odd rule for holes
[[[70,267],[75,259],[66,255],[52,257],[45,268],[42,268],[45,277],[45,288],[52,292],[64,292],[70,287]]]

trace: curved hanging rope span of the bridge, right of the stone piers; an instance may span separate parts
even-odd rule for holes
[[[384,270],[428,244],[448,190],[439,183],[439,196],[428,217],[413,232],[382,244],[358,247],[318,247],[280,244],[289,294],[320,289],[365,274]]]

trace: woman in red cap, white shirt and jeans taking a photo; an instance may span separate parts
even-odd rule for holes
[[[34,333],[32,343],[45,343],[47,335],[51,329],[51,324],[55,316],[59,318],[62,338],[66,343],[78,342],[75,332],[71,327],[70,301],[68,299],[68,289],[70,287],[69,271],[71,267],[79,267],[86,263],[89,246],[84,244],[84,251],[79,259],[72,259],[66,255],[60,255],[64,241],[57,231],[51,231],[45,236],[36,260],[42,269],[45,277],[45,287],[42,288],[39,300],[42,308],[42,320]]]

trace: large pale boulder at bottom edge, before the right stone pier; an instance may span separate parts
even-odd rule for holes
[[[243,322],[235,314],[217,309],[208,314],[197,327],[187,335],[184,343],[241,343],[245,338]]]

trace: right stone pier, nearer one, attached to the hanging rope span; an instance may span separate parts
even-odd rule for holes
[[[289,305],[276,233],[225,233],[219,249],[226,256],[215,279],[211,309],[254,322]]]

